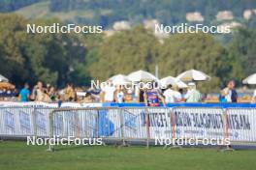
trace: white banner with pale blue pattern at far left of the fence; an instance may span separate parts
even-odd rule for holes
[[[0,135],[48,135],[50,108],[0,108]]]

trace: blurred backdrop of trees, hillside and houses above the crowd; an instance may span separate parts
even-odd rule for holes
[[[26,24],[102,25],[103,34],[27,34]],[[231,34],[155,34],[155,24],[230,26]],[[190,69],[218,93],[256,69],[255,0],[1,0],[0,74],[21,87],[42,80],[89,86],[117,73],[144,70],[176,76]],[[250,88],[250,87],[249,87]]]

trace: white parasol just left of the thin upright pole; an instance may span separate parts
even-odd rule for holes
[[[128,75],[128,78],[133,82],[158,80],[156,76],[147,71],[134,71]]]

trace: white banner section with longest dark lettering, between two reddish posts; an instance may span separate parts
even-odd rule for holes
[[[225,137],[225,120],[221,108],[175,108],[172,126],[177,138]]]

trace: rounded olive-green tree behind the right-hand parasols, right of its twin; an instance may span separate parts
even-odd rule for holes
[[[160,47],[157,63],[162,77],[191,69],[208,73],[211,80],[200,83],[203,92],[218,90],[231,70],[227,50],[203,33],[170,36]]]

